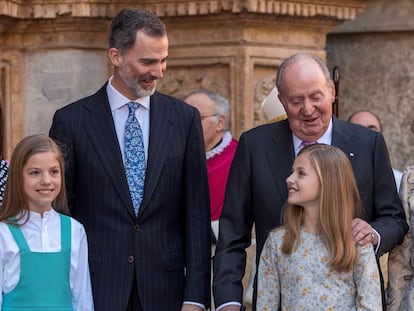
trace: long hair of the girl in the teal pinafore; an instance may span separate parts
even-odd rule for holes
[[[18,220],[29,219],[29,204],[24,191],[23,168],[29,158],[35,154],[52,152],[59,162],[61,172],[61,188],[52,207],[63,214],[69,214],[66,201],[66,187],[64,177],[64,160],[62,152],[50,137],[36,134],[23,138],[16,146],[10,159],[9,176],[0,211],[0,221],[17,224]],[[19,218],[16,219],[16,216]]]

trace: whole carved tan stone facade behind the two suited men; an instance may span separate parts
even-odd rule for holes
[[[57,108],[106,81],[107,29],[123,7],[151,10],[167,25],[170,51],[159,90],[181,97],[204,87],[228,97],[238,137],[266,122],[261,102],[281,61],[297,51],[325,59],[326,34],[355,18],[366,1],[3,0],[0,85],[9,150],[24,135],[47,132]]]

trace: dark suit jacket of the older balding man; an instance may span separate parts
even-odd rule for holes
[[[381,236],[378,254],[402,242],[407,224],[380,133],[333,119],[332,145],[349,156],[363,201],[364,216]],[[267,234],[281,224],[287,199],[286,178],[294,161],[287,120],[245,132],[239,141],[227,183],[220,234],[214,258],[216,306],[242,301],[244,249],[256,230],[256,262]]]

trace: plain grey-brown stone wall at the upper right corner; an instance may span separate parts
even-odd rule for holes
[[[393,167],[414,164],[414,2],[371,1],[354,21],[328,35],[331,67],[340,67],[339,115],[357,110],[381,119]]]

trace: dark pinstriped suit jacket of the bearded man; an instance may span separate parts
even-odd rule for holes
[[[125,310],[136,273],[144,310],[210,303],[210,206],[197,110],[155,93],[144,197],[134,216],[104,85],[58,110],[72,216],[86,229],[96,310]]]

